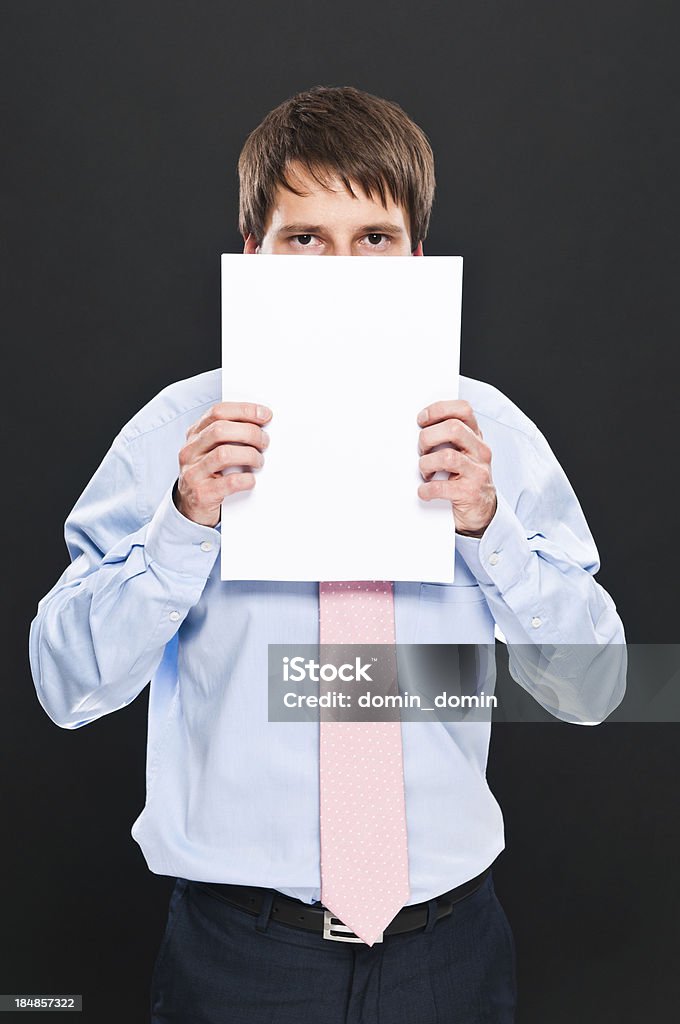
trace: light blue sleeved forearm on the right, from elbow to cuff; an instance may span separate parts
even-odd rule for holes
[[[585,553],[577,560],[539,534],[527,538],[502,498],[483,537],[457,544],[508,644],[513,678],[557,718],[603,721],[623,699],[627,652]]]

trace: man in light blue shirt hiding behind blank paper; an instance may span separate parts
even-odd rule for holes
[[[251,134],[240,177],[248,254],[423,255],[432,153],[393,103],[352,88],[301,93]],[[257,344],[257,310],[245,343]],[[463,377],[459,399],[445,392],[414,422],[418,494],[451,503],[456,584],[390,587],[396,640],[487,644],[498,629],[517,650],[623,645],[543,435],[491,385]],[[125,707],[152,679],[132,835],[150,868],[177,880],[153,1020],[511,1021],[487,723],[401,723],[409,897],[381,940],[324,931],[318,727],[267,722],[265,684],[268,644],[318,642],[322,586],[219,579],[229,499],[266,472],[275,416],[246,397],[221,402],[211,371],[123,427],[67,520],[72,564],[31,630],[38,698],[63,728]],[[379,458],[389,411],[372,410],[370,427]],[[448,479],[433,479],[440,471]],[[514,656],[516,678],[566,721],[601,720],[621,698],[617,678],[587,672],[542,689],[530,660]]]

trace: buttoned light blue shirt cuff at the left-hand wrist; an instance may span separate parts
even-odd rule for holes
[[[183,575],[208,579],[219,553],[221,535],[182,515],[166,490],[146,527],[144,550],[148,558]]]

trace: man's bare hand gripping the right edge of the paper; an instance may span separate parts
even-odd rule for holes
[[[420,472],[426,483],[418,487],[424,501],[444,498],[452,504],[459,534],[481,537],[497,508],[492,479],[492,450],[484,443],[472,407],[467,401],[435,401],[422,410],[418,423]],[[438,451],[433,451],[441,445]],[[439,470],[447,480],[433,480]]]

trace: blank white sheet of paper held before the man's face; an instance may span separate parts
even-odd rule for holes
[[[222,580],[454,582],[416,418],[458,397],[462,276],[461,256],[222,255],[222,400],[273,413],[255,486],[222,503]]]

